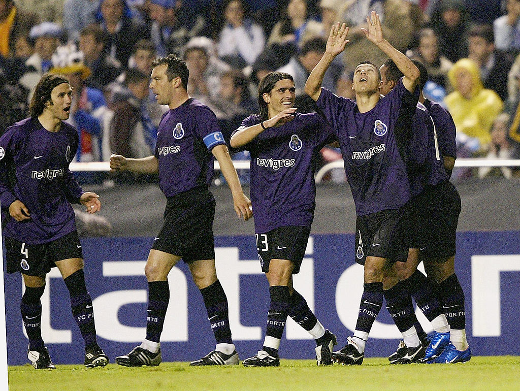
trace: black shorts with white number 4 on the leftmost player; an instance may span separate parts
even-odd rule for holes
[[[27,244],[5,238],[7,272],[16,271],[28,276],[44,276],[56,262],[63,259],[82,258],[80,238],[72,231],[61,238],[43,244]]]

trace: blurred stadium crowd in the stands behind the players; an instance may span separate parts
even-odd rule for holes
[[[425,64],[430,77],[424,95],[453,116],[458,156],[520,155],[520,0],[202,3],[0,0],[1,131],[27,116],[40,77],[59,73],[73,87],[68,122],[80,136],[77,161],[108,161],[112,153],[145,157],[167,111],[145,81],[154,58],[174,53],[188,63],[188,93],[215,112],[229,141],[240,121],[258,109],[255,92],[270,71],[291,74],[298,109],[315,110],[303,87],[335,22],[347,23],[350,42],[323,86],[354,99],[357,63],[385,60],[361,32],[366,15],[376,10],[388,41]],[[330,147],[321,152],[321,163],[340,158]],[[248,160],[249,153],[234,159]],[[515,174],[511,168],[466,169],[456,170],[453,179]]]

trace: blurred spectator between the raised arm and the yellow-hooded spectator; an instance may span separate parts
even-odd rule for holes
[[[439,54],[439,40],[433,29],[422,29],[419,46],[411,58],[421,61],[428,71],[428,80],[446,87],[446,76],[453,63]]]

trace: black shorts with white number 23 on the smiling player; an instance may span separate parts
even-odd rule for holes
[[[293,274],[300,272],[309,241],[310,227],[279,227],[265,233],[255,233],[256,250],[262,271],[269,271],[271,259],[287,259],[294,264]]]

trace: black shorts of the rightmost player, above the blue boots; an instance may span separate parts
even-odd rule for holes
[[[413,198],[414,248],[421,260],[442,262],[455,255],[456,231],[461,211],[460,195],[445,181],[426,188]]]

